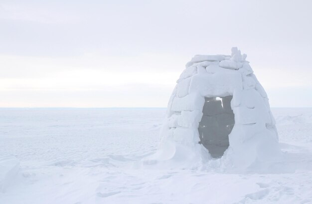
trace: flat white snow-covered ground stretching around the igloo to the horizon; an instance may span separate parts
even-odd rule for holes
[[[233,174],[142,168],[162,108],[0,109],[0,204],[312,204],[312,108],[272,112],[281,171]]]

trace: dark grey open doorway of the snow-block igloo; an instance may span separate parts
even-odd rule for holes
[[[200,143],[214,158],[222,157],[229,147],[229,134],[235,124],[234,113],[231,109],[232,97],[205,97],[198,132]]]

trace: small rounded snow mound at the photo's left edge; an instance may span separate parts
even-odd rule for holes
[[[0,158],[0,192],[5,192],[19,170],[19,161],[12,156]]]

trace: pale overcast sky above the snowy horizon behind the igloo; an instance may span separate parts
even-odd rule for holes
[[[0,107],[165,107],[238,46],[272,107],[312,107],[311,0],[0,0]]]

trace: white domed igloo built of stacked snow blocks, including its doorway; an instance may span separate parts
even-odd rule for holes
[[[158,150],[144,164],[248,169],[280,154],[268,96],[246,56],[233,47],[231,55],[195,55],[186,64]]]

